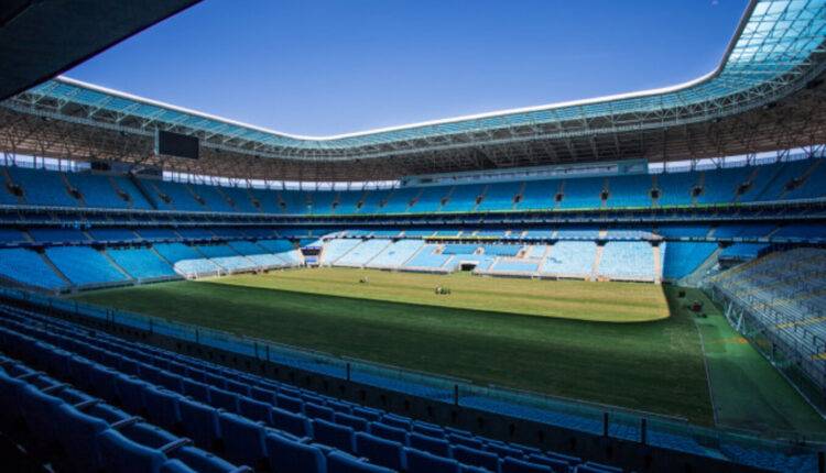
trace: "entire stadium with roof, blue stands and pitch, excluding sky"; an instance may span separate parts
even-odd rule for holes
[[[0,4],[8,471],[826,472],[826,0],[315,138],[63,76],[198,2],[66,3]]]

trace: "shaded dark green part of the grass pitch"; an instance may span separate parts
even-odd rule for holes
[[[480,384],[711,422],[699,340],[686,315],[604,323],[215,282],[108,289],[78,298]]]

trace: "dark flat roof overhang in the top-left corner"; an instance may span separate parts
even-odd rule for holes
[[[0,2],[0,99],[47,80],[200,0]]]

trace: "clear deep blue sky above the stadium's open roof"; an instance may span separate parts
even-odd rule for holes
[[[205,0],[67,76],[327,135],[663,87],[748,0]]]

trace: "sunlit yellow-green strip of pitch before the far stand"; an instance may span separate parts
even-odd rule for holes
[[[361,284],[362,277],[369,279]],[[640,322],[669,317],[662,288],[653,284],[595,284],[583,280],[532,280],[432,275],[374,270],[317,268],[211,279],[220,284],[329,296],[424,304],[578,320]],[[437,285],[453,294],[437,296]]]

